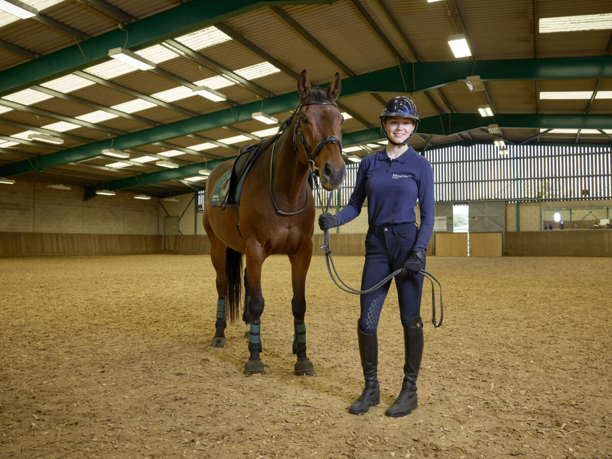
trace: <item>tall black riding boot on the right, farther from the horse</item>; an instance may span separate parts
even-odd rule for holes
[[[400,395],[385,413],[391,417],[406,416],[417,408],[417,376],[423,356],[423,322],[420,316],[413,317],[404,326],[404,351],[404,380]]]

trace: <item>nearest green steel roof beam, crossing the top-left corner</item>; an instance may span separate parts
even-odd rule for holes
[[[283,5],[330,4],[338,0],[192,0],[157,13],[123,29],[114,29],[71,47],[54,51],[0,73],[0,97],[33,84],[82,70],[108,60],[108,50],[124,47],[138,51],[166,39],[212,26],[253,10]],[[127,32],[127,34],[126,34]],[[127,44],[125,39],[127,38]]]

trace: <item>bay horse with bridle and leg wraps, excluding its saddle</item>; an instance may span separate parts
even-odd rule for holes
[[[296,375],[314,375],[306,355],[305,285],[312,258],[315,200],[309,174],[321,186],[335,190],[346,176],[341,152],[343,118],[335,104],[340,94],[340,75],[335,74],[327,91],[311,88],[303,70],[297,81],[300,102],[277,135],[260,143],[235,206],[212,204],[220,178],[232,161],[218,165],[208,177],[203,223],[211,242],[211,260],[217,275],[217,320],[213,347],[225,345],[226,309],[230,321],[239,313],[242,291],[242,254],[245,255],[245,305],[243,319],[248,329],[250,356],[246,375],[263,374],[259,335],[264,297],[261,266],[272,254],[287,255],[291,262],[294,317],[293,353],[297,354]],[[216,187],[219,189],[218,186]],[[250,325],[249,325],[250,323]]]

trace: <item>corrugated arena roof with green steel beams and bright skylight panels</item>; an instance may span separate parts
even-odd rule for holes
[[[302,69],[323,88],[340,73],[351,155],[383,141],[378,116],[399,94],[418,107],[419,151],[499,138],[612,143],[611,26],[540,29],[547,18],[609,16],[610,0],[6,2],[31,16],[0,11],[0,177],[82,185],[86,199],[203,188],[198,171],[274,133],[253,113],[291,114]],[[471,56],[453,56],[456,34]],[[116,61],[117,48],[152,68]],[[203,86],[225,99],[194,92]],[[565,91],[578,93],[547,98]]]

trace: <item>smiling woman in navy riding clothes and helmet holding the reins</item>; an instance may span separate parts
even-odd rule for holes
[[[400,395],[385,413],[399,417],[417,408],[416,379],[423,353],[420,318],[423,275],[419,271],[425,268],[425,250],[433,231],[433,171],[425,157],[406,145],[419,124],[417,108],[411,99],[394,97],[379,118],[387,147],[362,160],[348,204],[336,215],[320,215],[319,226],[321,230],[329,230],[350,222],[359,215],[367,198],[368,233],[361,289],[368,289],[402,269],[401,275],[395,276],[395,285],[404,329],[404,379]],[[414,212],[417,199],[420,227],[416,225]],[[370,406],[380,403],[376,329],[390,284],[389,280],[376,291],[360,296],[357,340],[365,387],[349,408],[354,414],[367,412]]]

